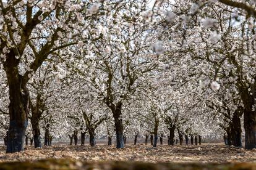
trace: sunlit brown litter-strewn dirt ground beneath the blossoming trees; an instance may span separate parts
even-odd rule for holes
[[[96,147],[53,145],[53,147],[26,147],[24,152],[5,153],[0,147],[0,162],[36,161],[46,158],[69,158],[79,161],[143,161],[147,163],[256,163],[256,150],[226,147],[223,144],[202,145],[126,145],[124,149],[114,146]]]

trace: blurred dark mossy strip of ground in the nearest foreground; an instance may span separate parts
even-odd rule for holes
[[[200,163],[142,163],[132,161],[81,162],[69,159],[47,159],[33,162],[0,163],[0,169],[256,169],[256,163],[200,164]]]

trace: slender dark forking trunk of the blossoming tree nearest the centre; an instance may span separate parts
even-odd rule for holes
[[[116,148],[124,148],[124,127],[122,125],[122,103],[116,104],[116,107],[111,107],[114,116],[114,126],[116,127]]]

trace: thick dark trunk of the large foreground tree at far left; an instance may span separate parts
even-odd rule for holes
[[[22,82],[19,75],[19,60],[15,59],[13,50],[4,62],[9,86],[9,131],[7,136],[6,153],[24,150],[25,132],[28,126],[29,91],[27,82]]]

